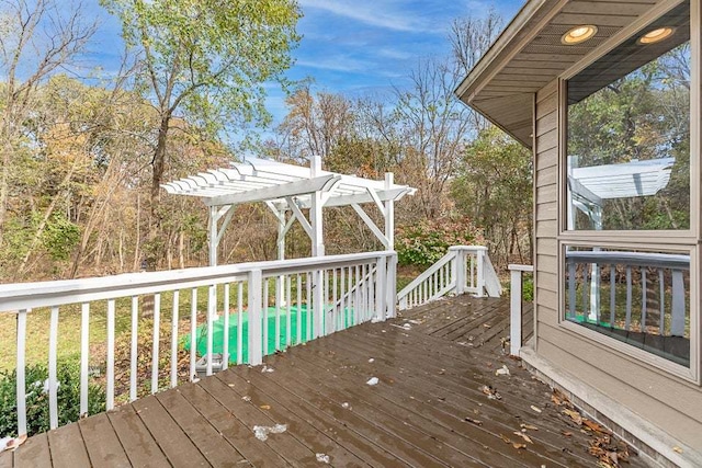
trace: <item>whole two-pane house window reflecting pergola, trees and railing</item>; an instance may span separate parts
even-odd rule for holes
[[[565,82],[561,290],[571,329],[693,376],[691,56],[684,1]]]

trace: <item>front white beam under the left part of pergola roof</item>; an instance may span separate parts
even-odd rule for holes
[[[217,195],[211,198],[204,198],[203,202],[207,206],[236,205],[239,203],[284,198],[286,196],[303,195],[308,193],[314,194],[320,192],[329,192],[337,183],[339,183],[340,180],[341,176],[339,175],[321,175],[318,178],[301,180],[296,182],[287,182],[275,186],[254,189],[227,195]]]

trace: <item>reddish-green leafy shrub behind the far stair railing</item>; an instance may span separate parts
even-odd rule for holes
[[[483,236],[468,218],[443,218],[398,228],[395,249],[400,265],[427,267],[441,259],[451,246],[476,243],[483,243]]]

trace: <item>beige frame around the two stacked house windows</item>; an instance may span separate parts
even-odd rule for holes
[[[700,185],[700,4],[690,2],[690,228],[687,230],[568,230],[567,229],[567,81],[624,43],[649,23],[656,21],[683,0],[668,0],[654,7],[630,26],[588,54],[558,78],[558,184],[557,184],[557,265],[558,277],[565,277],[565,249],[567,246],[586,248],[611,248],[620,250],[667,250],[690,255],[690,367],[668,361],[661,356],[623,343],[613,338],[589,330],[565,319],[565,282],[558,282],[558,326],[569,332],[586,338],[591,343],[619,352],[622,357],[646,365],[653,370],[678,376],[684,380],[702,385],[700,363],[702,362],[702,327],[700,327],[700,265],[702,264],[702,226],[700,207],[702,206]]]

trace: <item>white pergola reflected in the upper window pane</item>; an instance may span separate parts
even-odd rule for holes
[[[568,229],[575,228],[574,207],[585,213],[595,230],[602,229],[602,201],[657,194],[668,185],[675,158],[577,168],[568,161]]]

